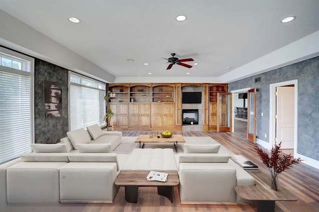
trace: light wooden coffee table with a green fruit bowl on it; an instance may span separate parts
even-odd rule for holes
[[[143,148],[145,143],[173,143],[177,152],[177,143],[185,143],[185,140],[182,135],[172,135],[170,138],[164,138],[161,135],[160,138],[150,138],[150,135],[139,135],[135,143],[140,143],[140,148]],[[141,146],[142,143],[143,145]]]

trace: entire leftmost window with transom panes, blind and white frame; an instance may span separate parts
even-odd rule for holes
[[[0,47],[0,164],[31,152],[34,59]]]

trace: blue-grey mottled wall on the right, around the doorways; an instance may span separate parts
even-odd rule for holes
[[[255,83],[257,77],[260,83]],[[319,160],[319,57],[229,83],[228,91],[258,89],[257,136],[263,138],[269,135],[269,85],[289,80],[298,80],[297,153]]]

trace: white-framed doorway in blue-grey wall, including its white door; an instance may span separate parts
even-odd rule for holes
[[[297,154],[298,80],[270,84],[269,143]]]

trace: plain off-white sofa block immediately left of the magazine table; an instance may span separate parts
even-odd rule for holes
[[[112,203],[119,187],[114,184],[117,164],[70,162],[60,169],[60,202]]]

